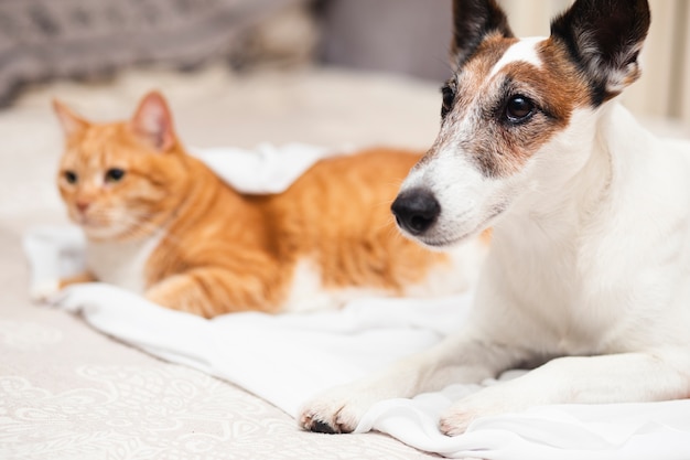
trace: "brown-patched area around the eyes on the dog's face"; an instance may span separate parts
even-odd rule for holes
[[[487,38],[443,87],[442,127],[428,157],[450,148],[487,178],[508,176],[568,127],[575,108],[592,105],[586,78],[560,42],[536,42],[531,56],[500,64],[517,42]]]

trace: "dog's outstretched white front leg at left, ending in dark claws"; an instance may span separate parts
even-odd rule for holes
[[[487,338],[451,335],[371,377],[322,393],[303,406],[299,422],[312,431],[352,432],[379,400],[411,397],[451,383],[478,383],[518,364],[526,355]]]

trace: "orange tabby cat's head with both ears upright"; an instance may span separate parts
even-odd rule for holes
[[[185,153],[168,104],[145,95],[130,120],[95,124],[53,103],[65,133],[57,185],[69,217],[94,240],[155,232],[184,196]]]

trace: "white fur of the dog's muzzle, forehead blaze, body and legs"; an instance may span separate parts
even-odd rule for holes
[[[513,45],[492,76],[517,61],[538,66],[539,43]],[[481,129],[471,116],[444,124],[434,154],[401,188],[423,188],[443,208],[416,236],[428,246],[494,225],[470,321],[306,403],[304,427],[352,431],[380,399],[524,364],[538,366],[456,402],[442,431],[535,405],[690,397],[690,143],[654,137],[613,99],[575,109],[517,173],[487,178],[455,148]]]

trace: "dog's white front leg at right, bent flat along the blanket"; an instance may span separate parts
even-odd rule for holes
[[[679,363],[645,353],[560,357],[462,398],[441,417],[440,426],[455,436],[477,417],[532,406],[684,398],[690,395],[690,371],[681,368]]]

